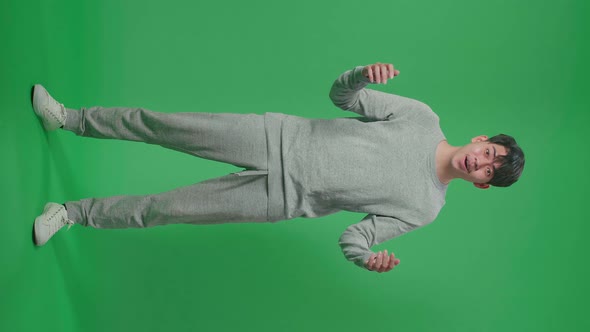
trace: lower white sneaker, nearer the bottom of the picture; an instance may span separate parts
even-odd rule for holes
[[[57,203],[47,203],[43,213],[35,219],[35,244],[44,245],[63,226],[69,224],[68,229],[74,224],[68,219],[66,208]]]

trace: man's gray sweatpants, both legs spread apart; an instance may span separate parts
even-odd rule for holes
[[[79,136],[158,144],[246,170],[168,192],[66,202],[68,218],[95,228],[265,222],[268,214],[264,116],[159,113],[141,108],[66,109],[64,129]]]

